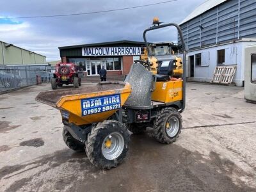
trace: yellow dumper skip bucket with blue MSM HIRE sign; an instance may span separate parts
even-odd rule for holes
[[[41,92],[36,100],[60,109],[69,123],[86,125],[108,119],[124,105],[131,92],[129,83],[102,82],[79,89]]]

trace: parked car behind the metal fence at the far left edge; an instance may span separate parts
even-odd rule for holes
[[[0,84],[5,88],[15,88],[22,82],[18,74],[13,74],[5,70],[0,70]]]

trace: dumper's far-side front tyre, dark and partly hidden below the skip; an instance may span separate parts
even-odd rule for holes
[[[67,129],[63,129],[62,132],[63,140],[66,143],[67,147],[71,148],[76,152],[84,151],[84,144],[80,141],[77,141],[73,136],[67,131]]]

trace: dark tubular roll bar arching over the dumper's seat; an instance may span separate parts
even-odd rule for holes
[[[180,35],[180,41],[181,41],[182,49],[183,49],[183,75],[182,75],[182,79],[183,79],[182,99],[183,100],[182,100],[182,109],[180,111],[180,113],[181,113],[182,111],[184,111],[185,106],[186,106],[186,55],[187,55],[187,51],[186,51],[186,45],[185,45],[185,42],[184,42],[184,38],[183,38],[183,35],[182,35],[182,31],[180,29],[180,26],[175,24],[175,23],[168,23],[168,24],[163,24],[163,25],[158,25],[158,26],[152,26],[148,29],[145,29],[145,31],[143,32],[143,39],[144,39],[144,42],[145,42],[146,47],[147,47],[148,56],[150,56],[150,55],[152,55],[152,52],[150,51],[149,46],[148,46],[146,33],[148,31],[153,31],[153,30],[160,29],[160,28],[166,28],[166,27],[169,27],[169,26],[175,26],[175,28],[178,29],[178,32],[179,32],[179,35]]]

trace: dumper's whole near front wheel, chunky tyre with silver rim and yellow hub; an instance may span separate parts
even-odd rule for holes
[[[124,161],[129,143],[130,135],[125,125],[115,120],[106,120],[92,127],[85,151],[92,164],[109,170]]]

